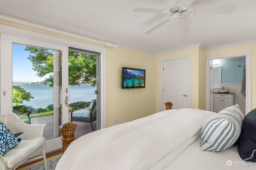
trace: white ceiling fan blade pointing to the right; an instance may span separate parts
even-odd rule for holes
[[[218,15],[218,14],[230,14],[235,9],[236,9],[236,4],[195,8],[194,10],[196,10],[196,14]]]

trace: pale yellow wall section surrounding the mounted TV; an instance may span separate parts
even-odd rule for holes
[[[118,46],[107,50],[106,57],[106,126],[117,124],[114,117],[124,123],[152,114],[151,109],[156,113],[155,56]],[[145,88],[121,89],[123,66],[145,69]]]

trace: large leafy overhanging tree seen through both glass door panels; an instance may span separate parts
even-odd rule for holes
[[[53,53],[48,49],[36,47],[26,47],[26,51],[30,51],[28,59],[32,63],[32,69],[36,71],[36,75],[48,78],[42,82],[53,86]],[[71,86],[80,84],[91,84],[96,86],[96,55],[86,53],[68,52],[68,83]]]

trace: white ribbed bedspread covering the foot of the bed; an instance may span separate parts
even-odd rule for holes
[[[84,135],[56,170],[162,169],[200,135],[214,112],[170,109]]]

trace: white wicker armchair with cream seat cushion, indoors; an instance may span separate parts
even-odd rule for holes
[[[14,170],[24,163],[43,158],[44,167],[47,170],[46,154],[44,151],[45,139],[43,137],[43,125],[29,125],[20,120],[15,113],[0,114],[0,121],[10,129],[12,133],[26,133],[27,139],[22,140],[14,148],[0,155],[0,169]],[[41,152],[39,156],[32,158],[35,153]],[[30,159],[31,158],[31,159]]]

